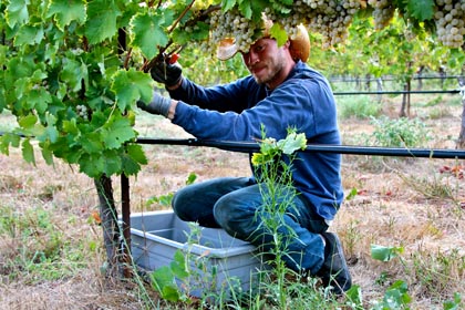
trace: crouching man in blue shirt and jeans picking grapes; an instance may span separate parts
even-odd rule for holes
[[[256,141],[264,125],[267,137],[276,140],[285,138],[291,127],[304,133],[309,143],[340,144],[331,87],[304,63],[309,37],[304,29],[299,33],[282,46],[265,34],[242,53],[251,75],[226,85],[203,87],[183,76],[179,66],[161,63],[151,73],[165,83],[172,99],[155,93],[148,105],[140,102],[138,106],[168,117],[202,140]],[[230,42],[220,46],[218,58],[225,60],[236,52]],[[352,285],[341,242],[335,234],[327,232],[343,199],[340,161],[339,154],[297,154],[292,182],[298,195],[280,230],[288,241],[286,265],[301,275],[320,277],[337,294]],[[266,236],[257,236],[264,234],[257,228],[267,216],[257,216],[261,195],[256,177],[216,178],[178,190],[173,208],[183,220],[221,227],[269,250],[272,242],[264,244]]]

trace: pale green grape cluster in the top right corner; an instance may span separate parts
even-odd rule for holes
[[[446,46],[461,48],[465,35],[465,0],[436,0],[434,21],[438,40]]]

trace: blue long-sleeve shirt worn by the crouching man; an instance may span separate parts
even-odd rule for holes
[[[255,141],[264,125],[267,137],[276,140],[286,138],[292,127],[308,143],[341,143],[331,87],[302,62],[272,91],[249,75],[213,87],[184,79],[169,94],[179,101],[173,123],[202,140]],[[326,153],[299,152],[292,162],[296,189],[328,220],[343,199],[340,165],[341,155]]]

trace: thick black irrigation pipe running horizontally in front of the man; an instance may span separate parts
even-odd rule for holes
[[[254,153],[259,152],[260,146],[254,142],[230,142],[230,141],[203,141],[197,138],[151,138],[140,137],[140,144],[158,145],[186,145],[216,147],[224,151]],[[422,158],[452,158],[465,159],[465,149],[446,148],[402,148],[402,147],[376,147],[376,146],[351,146],[351,145],[323,145],[309,144],[301,152],[322,152],[352,155],[374,155],[374,156],[399,156],[399,157],[422,157]]]

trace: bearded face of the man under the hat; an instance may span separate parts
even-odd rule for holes
[[[244,63],[259,84],[276,87],[286,76],[283,68],[287,45],[278,48],[276,40],[264,38],[255,42],[248,53],[242,53]]]

